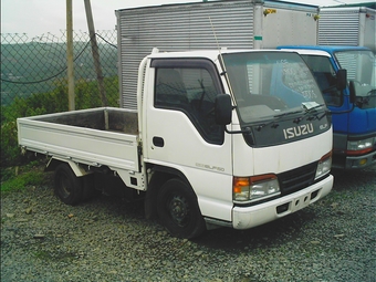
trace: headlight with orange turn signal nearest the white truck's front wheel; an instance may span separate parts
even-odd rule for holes
[[[280,194],[275,175],[261,175],[233,178],[233,200],[237,202],[257,201]]]

